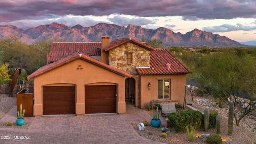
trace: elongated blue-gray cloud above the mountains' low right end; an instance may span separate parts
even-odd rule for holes
[[[244,31],[250,31],[250,30],[256,30],[256,26],[244,26],[243,24],[222,24],[220,26],[208,26],[203,28],[204,31],[207,32],[230,32],[230,31],[237,31],[237,30],[244,30]]]

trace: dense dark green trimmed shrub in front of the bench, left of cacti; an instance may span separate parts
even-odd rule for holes
[[[196,110],[187,110],[178,112],[173,112],[168,115],[168,124],[170,127],[174,128],[176,132],[184,132],[186,126],[194,126],[196,128],[201,126],[202,113]]]

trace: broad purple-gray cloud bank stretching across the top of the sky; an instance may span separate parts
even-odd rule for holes
[[[255,0],[4,0],[1,22],[65,16],[183,16],[184,20],[256,18]]]

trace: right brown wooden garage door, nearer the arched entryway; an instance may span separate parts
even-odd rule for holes
[[[85,86],[85,113],[116,113],[116,85]]]

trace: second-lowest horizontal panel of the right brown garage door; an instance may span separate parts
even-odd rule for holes
[[[86,106],[113,106],[116,105],[116,99],[88,99],[85,103]]]

